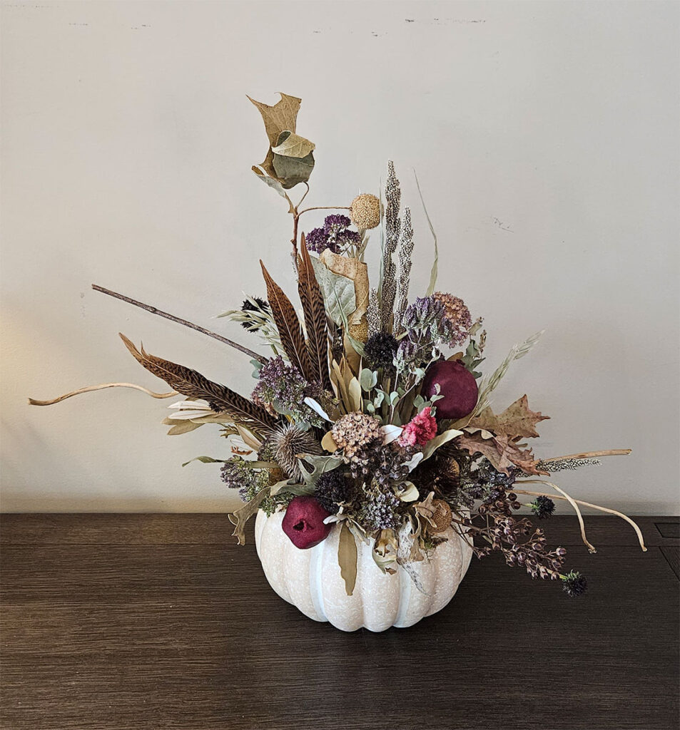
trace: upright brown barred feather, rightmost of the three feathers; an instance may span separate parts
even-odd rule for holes
[[[314,380],[318,380],[326,390],[331,389],[328,374],[328,330],[326,329],[326,307],[321,287],[316,280],[312,259],[305,244],[305,234],[300,241],[300,252],[297,264],[297,291],[302,302],[307,328],[307,351],[314,372]]]

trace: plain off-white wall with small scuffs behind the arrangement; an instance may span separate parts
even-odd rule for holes
[[[2,507],[235,507],[206,426],[118,339],[248,393],[248,359],[91,291],[127,293],[251,345],[211,316],[291,289],[283,201],[250,172],[267,143],[245,98],[302,96],[309,204],[378,191],[392,158],[414,210],[415,283],[489,331],[492,369],[546,334],[495,398],[552,416],[536,450],[633,447],[559,480],[633,513],[677,513],[679,5],[664,2],[53,2],[2,7]],[[303,219],[304,220],[304,219]],[[307,214],[309,229],[321,220]]]

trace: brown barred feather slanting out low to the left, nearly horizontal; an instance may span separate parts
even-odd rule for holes
[[[149,355],[143,346],[137,350],[137,347],[124,334],[118,334],[121,335],[121,339],[135,360],[150,373],[165,380],[177,393],[182,393],[188,398],[202,398],[210,404],[211,410],[218,413],[226,412],[234,418],[234,421],[246,426],[254,424],[259,429],[272,429],[276,426],[276,419],[264,408],[235,393],[226,385],[213,383],[196,370],[177,365],[155,355]]]

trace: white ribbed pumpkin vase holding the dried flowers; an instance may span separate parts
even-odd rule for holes
[[[394,574],[383,574],[371,546],[357,540],[356,585],[348,596],[337,563],[340,526],[335,524],[315,547],[300,550],[283,532],[283,515],[275,512],[268,518],[261,510],[257,514],[255,544],[264,575],[284,601],[342,631],[413,626],[451,601],[470,566],[472,548],[448,528],[442,534],[447,541],[430,558],[411,564],[424,588],[421,592],[401,566]]]

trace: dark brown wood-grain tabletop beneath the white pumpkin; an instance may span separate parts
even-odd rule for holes
[[[679,522],[551,518],[581,599],[498,556],[410,629],[273,593],[225,515],[4,515],[3,730],[678,727]]]

